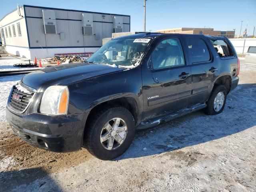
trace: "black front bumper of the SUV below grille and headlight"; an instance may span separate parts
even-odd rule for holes
[[[33,146],[54,152],[71,152],[82,146],[88,113],[48,116],[19,115],[6,108],[6,120],[14,133]]]

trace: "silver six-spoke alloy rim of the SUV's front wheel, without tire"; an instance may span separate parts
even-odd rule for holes
[[[100,142],[107,150],[115,150],[120,147],[127,135],[126,122],[121,118],[113,118],[108,121],[101,130]]]

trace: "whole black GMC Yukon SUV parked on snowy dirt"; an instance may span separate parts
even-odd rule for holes
[[[54,152],[86,147],[110,160],[128,149],[136,129],[200,109],[222,112],[239,68],[226,37],[123,36],[86,62],[24,76],[10,92],[6,120],[34,146]]]

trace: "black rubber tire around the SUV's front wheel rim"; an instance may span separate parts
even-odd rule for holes
[[[112,122],[113,124],[115,122],[118,122],[118,120],[116,119],[120,119],[121,128],[125,127],[124,125],[126,124],[126,130],[123,132],[120,131],[120,133],[116,133],[116,135],[114,134],[112,136],[112,134],[116,132],[114,131],[114,125],[112,125],[113,128],[112,126],[110,126],[112,128],[111,129],[109,128],[109,126],[106,126],[106,124],[111,125]],[[107,129],[104,129],[104,127],[108,127],[108,129],[111,129],[110,132]],[[116,128],[116,130],[119,130],[119,127]],[[122,140],[122,144],[118,146],[119,143],[117,142],[115,136],[120,139],[122,138],[119,136],[120,134],[125,136]],[[101,160],[111,160],[120,156],[129,148],[134,138],[134,134],[135,122],[130,111],[128,111],[126,108],[123,108],[122,106],[108,106],[106,108],[96,111],[90,117],[88,128],[86,128],[86,132],[84,133],[85,147],[93,156],[96,156]],[[104,135],[106,135],[107,137],[110,136],[109,138],[114,138],[114,144],[112,145],[112,149],[108,148],[108,142],[110,142],[109,138],[104,142],[101,141]]]

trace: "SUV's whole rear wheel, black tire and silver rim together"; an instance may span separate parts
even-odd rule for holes
[[[227,90],[224,85],[216,86],[207,101],[204,112],[208,115],[219,114],[223,111],[227,99]]]

